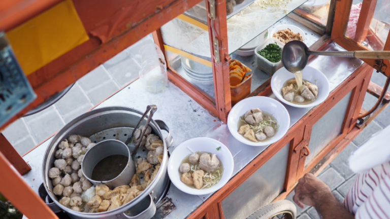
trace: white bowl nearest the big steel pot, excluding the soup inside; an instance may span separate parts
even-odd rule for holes
[[[221,147],[221,149],[217,150],[219,147]],[[217,155],[222,162],[224,170],[221,179],[216,185],[208,189],[198,190],[188,187],[180,180],[179,168],[181,162],[186,156],[192,153],[188,148],[193,152],[201,151]],[[206,137],[192,138],[184,141],[173,151],[168,160],[169,178],[179,190],[191,195],[205,195],[219,190],[229,181],[230,177],[232,177],[233,169],[234,161],[229,149],[226,148],[223,143]]]

